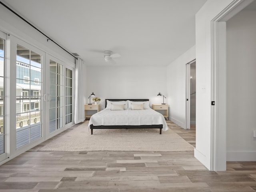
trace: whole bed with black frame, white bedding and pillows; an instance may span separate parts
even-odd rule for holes
[[[164,116],[149,107],[148,99],[106,99],[105,109],[91,116],[88,128],[91,134],[94,129],[158,128],[160,134],[168,130]]]

